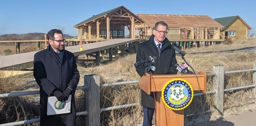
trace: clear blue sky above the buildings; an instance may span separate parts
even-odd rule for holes
[[[125,6],[134,14],[208,15],[212,19],[239,15],[253,28],[252,32],[256,32],[256,2],[253,0],[1,0],[0,5],[0,35],[47,33],[59,28],[76,36],[75,24],[119,6]]]

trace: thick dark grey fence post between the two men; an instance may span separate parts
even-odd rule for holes
[[[88,114],[85,116],[85,125],[100,125],[100,76],[85,75],[85,110]]]

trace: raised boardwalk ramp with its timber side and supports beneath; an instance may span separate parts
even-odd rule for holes
[[[105,60],[109,59],[109,61],[112,61],[114,56],[136,53],[138,44],[143,41],[145,41],[145,39],[112,39],[99,43],[81,44],[82,49],[80,49],[80,45],[66,47],[65,49],[75,55],[77,62],[94,61],[96,64],[100,64],[104,57],[106,58]],[[0,62],[2,62],[2,64],[0,64],[0,69],[23,70],[31,68],[36,52],[37,51],[1,56]],[[79,56],[84,54],[86,54],[87,59],[84,56],[79,58]]]

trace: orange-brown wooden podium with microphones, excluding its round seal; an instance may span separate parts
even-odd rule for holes
[[[189,82],[193,91],[206,93],[206,73],[195,74],[160,74],[150,75],[146,73],[139,79],[139,87],[147,94],[156,93],[156,126],[184,126],[184,109],[172,110],[168,108],[162,100],[162,90],[164,85],[171,79],[181,78]]]

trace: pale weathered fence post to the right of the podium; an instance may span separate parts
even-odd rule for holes
[[[216,75],[213,77],[213,90],[216,91],[214,97],[214,105],[218,115],[223,115],[224,112],[224,66],[213,66],[213,71]]]

